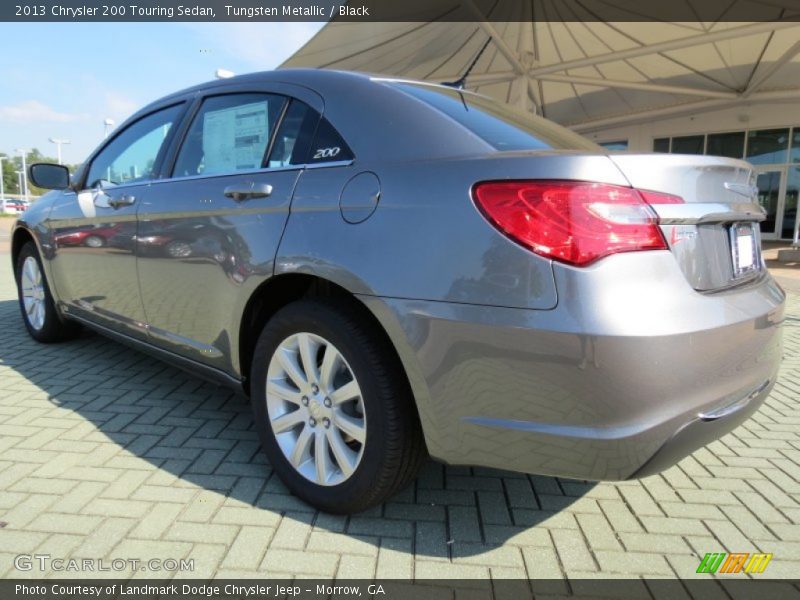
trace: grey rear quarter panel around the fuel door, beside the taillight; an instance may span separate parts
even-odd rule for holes
[[[380,180],[378,207],[365,221],[347,223],[339,196],[363,171]],[[605,156],[559,153],[305,171],[276,274],[313,273],[374,296],[551,309],[558,301],[551,261],[495,230],[470,195],[483,180],[545,177],[626,183]]]

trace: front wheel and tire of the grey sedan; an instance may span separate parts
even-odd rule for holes
[[[22,321],[33,339],[42,343],[61,342],[80,332],[80,325],[65,321],[58,314],[42,260],[32,241],[20,249],[15,275]]]

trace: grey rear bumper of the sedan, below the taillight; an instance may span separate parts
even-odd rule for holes
[[[655,253],[638,254],[649,266],[631,255],[614,268],[659,271]],[[782,352],[785,297],[770,276],[704,295],[682,278],[688,291],[640,275],[637,306],[648,309],[636,314],[575,281],[548,311],[365,302],[405,363],[432,456],[627,479],[667,468],[746,420],[774,385]],[[569,275],[559,278],[559,291],[569,290]]]

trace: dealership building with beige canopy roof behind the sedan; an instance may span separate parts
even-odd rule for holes
[[[332,22],[285,67],[464,87],[613,150],[715,154],[757,169],[765,239],[800,190],[800,23]]]

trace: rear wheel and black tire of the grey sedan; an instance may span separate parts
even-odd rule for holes
[[[301,346],[313,357],[310,377]],[[286,487],[316,508],[352,514],[380,504],[416,477],[426,456],[408,381],[387,346],[350,305],[335,300],[289,304],[261,332],[250,370],[256,429]],[[292,383],[292,365],[300,385]],[[305,450],[295,452],[306,439]],[[326,449],[323,466],[318,445]]]

